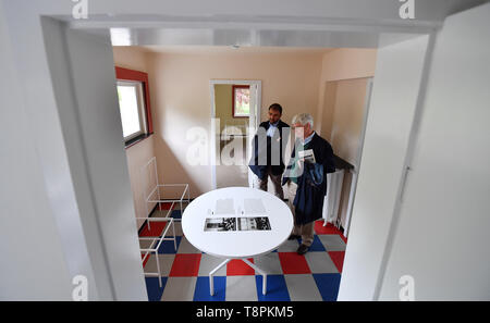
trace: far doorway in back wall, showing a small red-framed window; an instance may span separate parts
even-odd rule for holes
[[[212,188],[252,187],[248,169],[260,117],[260,80],[211,80]]]

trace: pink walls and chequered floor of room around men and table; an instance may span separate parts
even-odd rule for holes
[[[316,222],[316,237],[309,254],[295,254],[298,240],[293,240],[280,246],[277,252],[254,259],[269,270],[269,286],[273,287],[269,287],[267,295],[257,293],[255,288],[255,275],[258,273],[235,260],[216,276],[215,279],[223,286],[220,285],[218,289],[217,285],[217,293],[210,297],[206,285],[208,272],[205,269],[219,259],[200,256],[200,251],[183,236],[181,223],[175,222],[179,239],[176,251],[171,240],[163,241],[159,251],[159,265],[164,269],[161,276],[166,284],[159,287],[158,278],[151,275],[146,277],[150,300],[258,300],[258,297],[261,300],[336,299],[355,194],[352,187],[359,167],[359,149],[363,146],[367,100],[376,70],[376,49],[357,48],[113,47],[117,70],[125,69],[148,75],[149,85],[145,86],[149,87],[148,96],[151,98],[152,128],[137,141],[130,138],[125,149],[142,237],[158,236],[163,231],[158,224],[151,224],[148,228],[143,218],[167,214],[174,219],[181,218],[180,206],[169,210],[169,202],[159,207],[145,200],[151,191],[155,177],[150,178],[151,174],[148,175],[144,166],[154,157],[158,164],[158,182],[188,183],[191,200],[217,188],[250,186],[249,156],[246,154],[247,146],[250,146],[247,138],[250,136],[247,134],[249,119],[234,113],[237,103],[234,100],[235,88],[249,89],[249,85],[241,85],[243,80],[261,83],[258,123],[268,120],[268,107],[274,102],[283,107],[281,120],[287,124],[297,113],[310,113],[317,134],[331,142],[338,158],[338,172],[331,174],[331,178],[329,176],[331,181],[323,218]],[[123,75],[117,73],[117,79],[119,86],[124,86],[121,83],[124,80]],[[213,91],[210,91],[210,86]],[[195,165],[187,159],[188,147],[193,144],[187,129],[203,127],[208,132],[211,107],[215,107],[215,120],[219,121],[219,144],[216,144],[215,149],[217,159],[225,153],[223,149],[232,140],[238,145],[234,151],[244,152],[238,165],[226,165],[224,162],[211,165],[216,169],[215,178],[208,165]],[[208,140],[211,141],[210,138]],[[210,146],[211,142],[208,144]],[[233,153],[231,151],[231,157],[234,157]],[[286,160],[290,154],[291,149],[285,153]],[[142,179],[142,176],[148,178]],[[272,185],[268,187],[273,194]],[[176,198],[174,192],[166,189],[168,191],[161,192],[160,198]],[[184,201],[184,210],[187,201]],[[146,247],[148,244],[146,240],[142,243]],[[182,254],[195,256],[195,262],[186,264],[196,266],[195,274],[177,273],[179,257]],[[155,254],[146,257],[143,260],[145,272],[155,272],[156,261]],[[311,288],[302,289],[297,286]],[[179,293],[182,290],[187,294]]]

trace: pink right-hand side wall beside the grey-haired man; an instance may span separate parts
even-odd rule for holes
[[[375,75],[377,49],[341,48],[323,55],[316,131],[336,156],[357,164],[367,77]],[[342,186],[339,215],[345,227],[352,174]]]

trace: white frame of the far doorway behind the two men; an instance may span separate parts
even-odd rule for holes
[[[217,84],[230,84],[230,85],[248,85],[248,86],[257,86],[257,98],[254,96],[254,91],[250,91],[250,99],[253,105],[255,105],[254,110],[250,110],[255,115],[252,115],[252,119],[254,120],[253,127],[248,127],[248,132],[253,129],[257,131],[258,125],[260,124],[260,114],[261,114],[261,107],[262,107],[262,82],[261,80],[244,80],[244,79],[211,79],[209,80],[209,92],[211,96],[211,133],[209,136],[210,144],[211,144],[211,151],[209,161],[211,163],[211,185],[212,189],[217,189],[217,178],[216,178],[216,123],[212,122],[212,120],[216,117],[216,100],[215,100],[215,85]],[[250,134],[248,134],[250,135]],[[248,148],[249,145],[247,145]],[[247,149],[248,151],[249,149]],[[250,179],[250,171],[248,171],[248,185],[252,187],[252,179]]]

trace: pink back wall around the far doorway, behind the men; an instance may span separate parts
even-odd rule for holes
[[[160,179],[189,183],[196,197],[211,189],[211,167],[187,162],[191,127],[210,132],[211,79],[262,82],[261,120],[267,108],[282,104],[283,120],[318,107],[321,53],[149,53],[150,89],[155,116],[155,151]],[[208,149],[210,151],[210,149]]]

